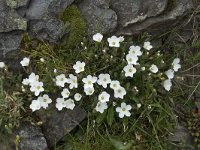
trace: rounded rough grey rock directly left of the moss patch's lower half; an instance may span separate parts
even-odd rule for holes
[[[50,42],[58,41],[65,34],[63,28],[64,23],[54,17],[32,20],[29,24],[29,31],[34,37]]]

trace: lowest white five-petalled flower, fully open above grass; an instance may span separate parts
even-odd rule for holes
[[[126,103],[121,103],[121,107],[116,108],[116,112],[119,113],[120,118],[124,118],[124,116],[130,117],[130,110],[132,109],[131,105],[126,105]]]

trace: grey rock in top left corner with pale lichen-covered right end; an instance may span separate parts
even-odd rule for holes
[[[0,2],[0,32],[13,30],[26,30],[27,21],[19,16],[14,9],[6,6],[5,1]]]

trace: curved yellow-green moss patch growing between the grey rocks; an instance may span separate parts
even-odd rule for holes
[[[68,48],[73,48],[86,36],[86,22],[77,6],[72,5],[60,14],[60,19],[67,26],[69,24],[69,37],[65,42]]]

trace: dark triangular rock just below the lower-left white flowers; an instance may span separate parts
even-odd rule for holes
[[[86,112],[78,106],[74,110],[52,112],[52,114],[45,111],[37,112],[37,116],[43,122],[42,129],[49,147],[53,147],[86,117]]]

